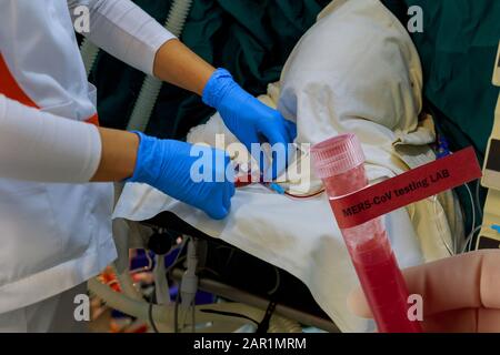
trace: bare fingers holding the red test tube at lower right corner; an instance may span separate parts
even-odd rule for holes
[[[403,271],[408,290],[422,296],[426,332],[500,332],[500,251],[477,251]],[[363,292],[348,300],[353,313],[372,317]]]

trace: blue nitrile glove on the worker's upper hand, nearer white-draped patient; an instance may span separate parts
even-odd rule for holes
[[[219,111],[228,129],[250,152],[252,143],[284,144],[286,159],[277,161],[276,156],[272,156],[273,179],[287,168],[291,152],[288,144],[292,143],[297,135],[293,122],[241,89],[224,69],[218,69],[210,78],[203,89],[203,102]],[[261,162],[262,171],[268,169],[262,166],[261,156],[253,158]]]

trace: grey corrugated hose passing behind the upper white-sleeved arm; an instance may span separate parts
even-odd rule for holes
[[[174,0],[170,8],[164,28],[177,38],[182,34],[191,6],[192,0]],[[161,87],[161,80],[151,75],[146,77],[139,98],[137,99],[132,114],[130,115],[129,124],[127,126],[128,131],[146,131],[160,94]]]

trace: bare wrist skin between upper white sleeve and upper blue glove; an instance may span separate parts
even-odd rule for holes
[[[178,40],[160,47],[154,58],[154,75],[182,89],[202,94],[216,69]]]

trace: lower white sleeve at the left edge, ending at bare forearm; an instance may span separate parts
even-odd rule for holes
[[[0,178],[84,183],[101,159],[93,124],[56,116],[0,94]]]

